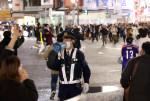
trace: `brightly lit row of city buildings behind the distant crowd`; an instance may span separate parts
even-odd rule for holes
[[[150,21],[149,0],[0,0],[1,21],[20,25]]]

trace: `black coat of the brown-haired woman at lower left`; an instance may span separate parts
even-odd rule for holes
[[[37,101],[38,93],[30,79],[23,83],[0,80],[0,101]]]

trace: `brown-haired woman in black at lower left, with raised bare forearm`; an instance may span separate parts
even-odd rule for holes
[[[14,27],[14,36],[0,56],[0,101],[37,101],[34,82],[22,69],[20,59],[14,55],[14,45],[22,33]]]

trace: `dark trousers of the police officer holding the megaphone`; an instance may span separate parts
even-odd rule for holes
[[[59,98],[64,101],[82,93],[81,84],[59,84]]]

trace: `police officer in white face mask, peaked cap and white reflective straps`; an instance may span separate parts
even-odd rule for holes
[[[63,32],[63,42],[67,47],[59,52],[53,63],[53,70],[59,71],[59,97],[64,101],[87,93],[89,90],[90,69],[85,60],[84,54],[74,48],[77,37],[71,32]],[[84,85],[81,88],[81,77],[83,74]]]

